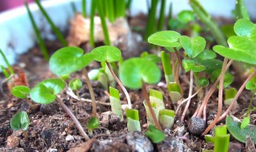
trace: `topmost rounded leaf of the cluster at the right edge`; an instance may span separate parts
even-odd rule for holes
[[[240,37],[251,37],[256,34],[256,25],[248,19],[241,18],[234,23],[234,32]]]

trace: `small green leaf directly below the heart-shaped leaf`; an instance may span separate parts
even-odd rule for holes
[[[183,59],[182,66],[184,67],[184,70],[186,72],[189,70],[191,70],[193,72],[202,72],[203,70],[206,70],[206,66],[199,65],[193,59]]]

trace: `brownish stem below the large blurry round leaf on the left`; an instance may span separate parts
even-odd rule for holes
[[[90,92],[90,98],[92,101],[91,104],[93,106],[93,117],[97,118],[97,107],[96,107],[96,100],[95,100],[95,96],[94,96],[94,90],[93,90],[93,87],[91,86],[90,78],[88,77],[88,72],[87,72],[86,68],[82,68],[82,73],[86,77],[86,83],[88,85],[88,89]]]

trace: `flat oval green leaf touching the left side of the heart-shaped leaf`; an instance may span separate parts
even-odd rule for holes
[[[181,37],[181,34],[173,30],[163,30],[157,33],[150,35],[147,39],[147,42],[163,47],[178,47],[181,46],[178,42],[178,38]]]

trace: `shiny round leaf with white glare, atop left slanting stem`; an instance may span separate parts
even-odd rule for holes
[[[54,102],[56,94],[64,90],[66,83],[59,78],[50,78],[38,83],[30,91],[30,98],[40,104]]]

